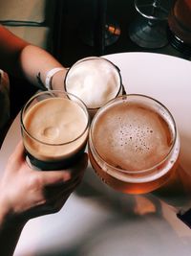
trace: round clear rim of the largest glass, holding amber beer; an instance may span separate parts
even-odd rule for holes
[[[167,112],[167,114],[169,115],[169,117],[170,117],[170,119],[172,121],[172,124],[173,124],[173,128],[174,128],[173,143],[172,143],[169,151],[166,153],[166,155],[163,157],[163,159],[159,161],[159,163],[153,165],[152,167],[143,169],[143,170],[124,170],[124,169],[120,169],[120,168],[117,168],[117,167],[109,164],[99,154],[99,152],[96,150],[96,148],[94,146],[94,143],[93,143],[93,134],[92,133],[93,133],[93,128],[94,128],[94,125],[96,123],[96,119],[98,118],[99,113],[104,111],[104,109],[108,105],[112,105],[114,102],[116,102],[118,100],[121,100],[123,98],[128,98],[128,97],[141,97],[141,98],[153,101],[157,105],[160,105],[165,110],[165,112]],[[126,175],[128,175],[128,174],[129,175],[141,175],[141,174],[143,175],[143,174],[147,174],[149,172],[152,172],[152,171],[156,170],[162,163],[164,163],[168,159],[168,157],[170,156],[170,154],[174,150],[178,140],[179,140],[179,134],[178,134],[176,122],[175,122],[175,119],[174,119],[173,115],[171,114],[170,110],[165,105],[161,104],[158,100],[154,99],[153,97],[147,96],[147,95],[144,95],[144,94],[136,94],[136,93],[118,96],[116,99],[113,99],[113,100],[109,101],[106,105],[103,105],[101,108],[99,108],[98,111],[96,112],[95,117],[92,120],[92,123],[91,123],[91,126],[90,126],[90,131],[89,131],[89,143],[90,143],[90,146],[93,147],[93,150],[96,152],[96,157],[98,157],[102,162],[104,162],[104,164],[106,166],[108,166],[112,170],[116,170],[117,172],[120,172],[120,173],[125,173]],[[92,151],[92,149],[91,149],[91,151]],[[93,157],[95,157],[95,156],[93,155]]]

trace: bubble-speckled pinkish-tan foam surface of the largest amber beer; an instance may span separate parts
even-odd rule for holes
[[[103,113],[100,121],[95,132],[96,147],[123,169],[149,168],[169,151],[169,128],[151,109],[137,104],[115,105],[107,109],[107,115]]]

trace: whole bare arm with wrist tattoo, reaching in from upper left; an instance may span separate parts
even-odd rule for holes
[[[47,72],[54,67],[63,67],[47,51],[34,46],[3,26],[0,26],[0,63],[8,73],[25,77],[33,85],[38,86],[38,76],[45,83]],[[53,76],[53,89],[63,89],[66,69]]]

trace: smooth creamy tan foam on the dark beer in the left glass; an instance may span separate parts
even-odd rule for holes
[[[25,113],[23,127],[27,151],[39,160],[54,161],[70,157],[84,146],[88,116],[74,101],[48,98]]]

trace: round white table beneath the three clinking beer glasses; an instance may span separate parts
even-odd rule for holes
[[[166,105],[180,130],[180,163],[191,170],[191,62],[159,54],[106,56],[121,71],[127,93],[147,94]],[[20,139],[19,116],[0,153],[0,170]],[[191,230],[150,195],[121,195],[89,167],[63,209],[29,221],[17,256],[188,256]]]

